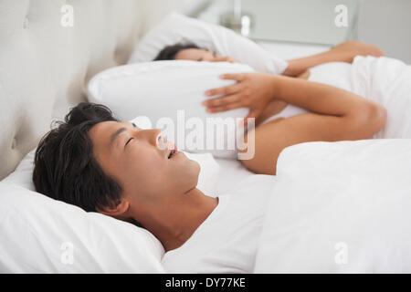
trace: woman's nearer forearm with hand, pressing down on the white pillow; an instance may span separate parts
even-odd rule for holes
[[[227,74],[221,78],[238,82],[220,89],[208,90],[208,96],[224,95],[203,102],[209,112],[249,108],[248,118],[258,118],[269,102],[279,99],[322,115],[368,120],[382,107],[352,92],[300,78],[267,73]]]

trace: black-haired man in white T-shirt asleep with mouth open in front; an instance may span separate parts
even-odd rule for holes
[[[39,193],[146,228],[168,271],[252,272],[270,184],[214,198],[196,188],[199,171],[161,130],[80,103],[40,141],[33,181]]]

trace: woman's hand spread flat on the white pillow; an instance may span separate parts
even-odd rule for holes
[[[236,84],[224,88],[210,89],[208,97],[223,95],[216,99],[207,99],[203,105],[208,112],[220,112],[238,108],[249,108],[248,118],[258,118],[275,96],[275,76],[266,73],[226,74],[222,79],[237,80]]]

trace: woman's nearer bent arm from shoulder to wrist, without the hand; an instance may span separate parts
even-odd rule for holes
[[[385,108],[343,89],[287,77],[272,77],[271,86],[273,99],[312,112],[258,126],[254,141],[246,141],[254,156],[242,161],[252,172],[276,174],[280,152],[291,145],[367,139],[385,125]]]

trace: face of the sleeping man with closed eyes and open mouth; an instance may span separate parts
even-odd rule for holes
[[[130,122],[104,121],[89,131],[93,155],[103,171],[120,183],[129,203],[166,204],[195,188],[200,167],[184,152],[169,158],[174,144],[161,130],[142,130]]]

